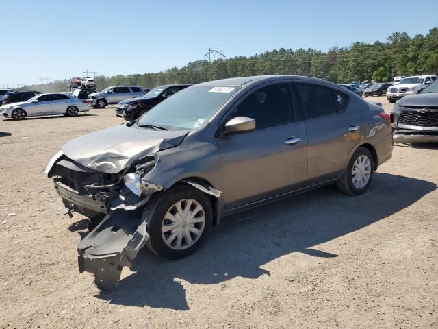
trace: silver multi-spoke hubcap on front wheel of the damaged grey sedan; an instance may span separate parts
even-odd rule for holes
[[[164,215],[162,238],[168,247],[183,250],[192,247],[205,228],[205,211],[194,199],[175,202]]]

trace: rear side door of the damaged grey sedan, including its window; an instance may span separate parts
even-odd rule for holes
[[[298,84],[309,143],[309,183],[337,178],[359,143],[360,117],[348,111],[350,97],[319,84]]]

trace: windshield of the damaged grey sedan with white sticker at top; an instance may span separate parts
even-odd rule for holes
[[[240,87],[236,86],[185,88],[144,114],[138,125],[194,130],[207,121],[239,89]]]

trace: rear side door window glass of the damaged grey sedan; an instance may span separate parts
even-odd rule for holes
[[[348,103],[346,94],[315,84],[300,84],[300,93],[307,118],[342,111]]]

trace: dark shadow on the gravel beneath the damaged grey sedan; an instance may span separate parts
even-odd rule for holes
[[[269,276],[263,265],[294,252],[337,257],[313,246],[385,219],[436,187],[425,180],[375,173],[370,189],[358,197],[325,186],[242,212],[223,219],[188,258],[164,260],[145,247],[131,266],[136,273],[121,280],[117,291],[96,297],[112,304],[188,310],[181,280],[217,284],[235,277]]]

